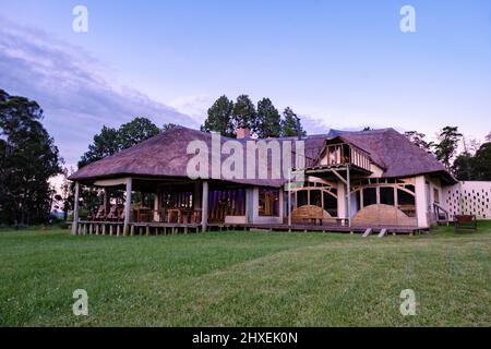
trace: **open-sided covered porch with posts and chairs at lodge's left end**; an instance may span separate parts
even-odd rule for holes
[[[81,214],[81,190],[97,205]],[[182,178],[125,177],[75,182],[72,234],[141,236],[205,231],[247,224],[250,189],[237,183]]]

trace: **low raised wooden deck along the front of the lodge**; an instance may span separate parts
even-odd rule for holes
[[[71,225],[72,222],[69,222]],[[418,227],[403,226],[340,226],[340,225],[299,225],[288,226],[286,224],[208,224],[207,231],[227,231],[227,230],[258,230],[258,231],[318,231],[318,232],[345,232],[345,233],[363,233],[371,228],[373,233],[386,229],[393,234],[414,234],[427,229]],[[122,221],[79,221],[79,234],[96,234],[96,236],[122,236]],[[130,222],[129,236],[158,236],[158,234],[176,234],[176,233],[196,233],[202,232],[200,224],[168,224],[168,222]]]

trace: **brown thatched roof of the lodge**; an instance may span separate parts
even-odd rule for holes
[[[366,132],[332,131],[330,134],[307,136],[303,139],[307,166],[313,165],[325,141],[336,136],[370,153],[372,160],[385,170],[384,177],[407,177],[438,172],[446,173],[450,177],[445,168],[432,155],[427,154],[393,129]],[[228,140],[221,137],[221,143]],[[295,141],[296,137],[277,140]],[[116,155],[89,164],[73,173],[70,179],[91,182],[127,176],[187,178],[188,161],[194,156],[187,154],[187,147],[191,141],[203,141],[212,149],[212,135],[209,133],[177,127]],[[241,142],[246,146],[246,142]],[[295,153],[295,142],[292,143]],[[226,157],[228,155],[221,155],[223,159]],[[280,186],[286,179],[231,181],[243,184]]]

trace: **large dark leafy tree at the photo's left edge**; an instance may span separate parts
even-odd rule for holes
[[[0,198],[7,224],[44,222],[51,210],[48,180],[60,173],[58,148],[39,105],[0,89]]]

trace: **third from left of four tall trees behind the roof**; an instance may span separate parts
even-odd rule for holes
[[[260,139],[278,137],[282,131],[282,117],[270,98],[258,103],[258,113],[253,131]]]

